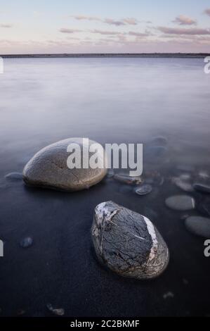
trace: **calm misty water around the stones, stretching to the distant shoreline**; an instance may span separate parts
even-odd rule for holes
[[[171,184],[179,165],[193,176],[209,170],[210,75],[203,59],[6,59],[0,75],[0,238],[2,315],[67,316],[208,315],[210,260],[204,240],[185,230],[181,213],[164,199],[182,191]],[[100,143],[164,136],[168,150],[158,170],[164,185],[145,197],[112,180],[65,194],[6,182],[42,147],[67,137]],[[152,282],[124,280],[98,265],[91,248],[93,208],[105,200],[144,213],[169,245],[171,262]],[[195,194],[195,199],[203,199]],[[192,212],[194,213],[194,212]],[[195,215],[198,211],[195,211]],[[30,235],[34,245],[18,242]],[[187,282],[186,282],[187,280]],[[173,292],[173,298],[163,299]]]

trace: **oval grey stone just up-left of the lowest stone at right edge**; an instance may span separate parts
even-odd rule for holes
[[[195,208],[195,200],[188,195],[170,196],[165,202],[167,207],[175,211],[189,211]]]

